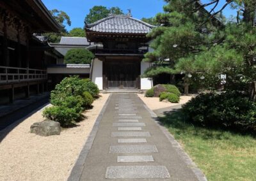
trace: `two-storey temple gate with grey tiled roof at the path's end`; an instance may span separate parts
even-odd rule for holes
[[[99,89],[150,89],[152,80],[141,78],[150,64],[142,62],[148,52],[147,33],[154,25],[131,15],[109,15],[93,24],[86,24],[86,37],[95,54],[91,79]]]

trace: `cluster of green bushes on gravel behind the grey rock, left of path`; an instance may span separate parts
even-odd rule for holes
[[[93,97],[99,94],[97,85],[78,76],[64,78],[51,92],[51,104],[45,108],[43,116],[60,122],[62,127],[72,126],[86,108],[90,108]]]

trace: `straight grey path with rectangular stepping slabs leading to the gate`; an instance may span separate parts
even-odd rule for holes
[[[198,180],[136,94],[111,96],[91,142],[68,180]]]

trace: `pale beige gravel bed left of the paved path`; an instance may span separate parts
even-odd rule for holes
[[[0,131],[0,180],[67,180],[109,94],[94,101],[79,126],[61,131],[60,136],[42,137],[29,133],[34,122],[44,120],[42,110],[14,127]],[[8,133],[9,132],[9,133]]]

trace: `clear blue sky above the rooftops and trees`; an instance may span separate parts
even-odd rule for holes
[[[84,26],[84,17],[89,13],[93,6],[106,6],[111,8],[113,6],[120,7],[124,13],[127,9],[132,10],[134,18],[141,19],[143,17],[154,17],[157,13],[163,11],[163,0],[42,0],[48,10],[58,9],[65,11],[72,22],[71,26],[67,25],[67,30],[74,27]],[[203,0],[204,2],[209,0]],[[221,4],[225,1],[221,1]],[[227,8],[224,12],[226,16],[234,14],[232,10]]]

